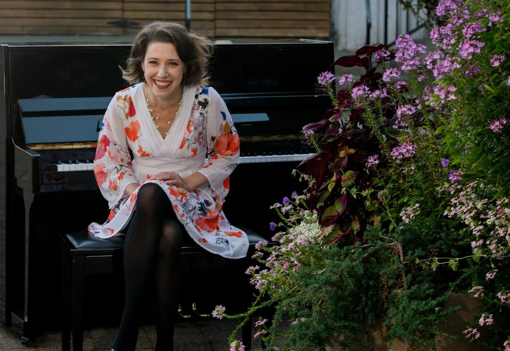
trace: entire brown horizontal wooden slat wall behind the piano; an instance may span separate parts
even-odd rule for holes
[[[0,34],[130,35],[154,20],[184,24],[185,0],[0,0]],[[329,23],[329,0],[191,0],[204,35],[327,38]]]

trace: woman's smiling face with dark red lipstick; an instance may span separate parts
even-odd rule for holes
[[[152,42],[147,46],[142,62],[143,76],[150,95],[161,99],[174,99],[181,95],[184,63],[171,43]]]

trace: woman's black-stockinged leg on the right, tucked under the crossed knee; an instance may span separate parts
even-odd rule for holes
[[[181,286],[179,254],[184,227],[175,214],[170,214],[163,223],[154,274],[156,351],[173,350],[173,330]]]

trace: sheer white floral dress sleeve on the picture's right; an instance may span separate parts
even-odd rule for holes
[[[208,162],[199,172],[223,198],[228,193],[229,176],[239,164],[239,134],[223,99],[213,88],[209,88],[206,128]]]

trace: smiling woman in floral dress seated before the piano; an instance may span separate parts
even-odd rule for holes
[[[180,24],[148,24],[122,70],[135,85],[115,94],[103,119],[94,174],[111,212],[89,231],[118,235],[133,216],[116,351],[135,349],[146,287],[154,288],[156,350],[173,349],[183,233],[223,257],[246,256],[246,234],[222,211],[239,136],[218,93],[200,86],[210,53],[207,39]]]

